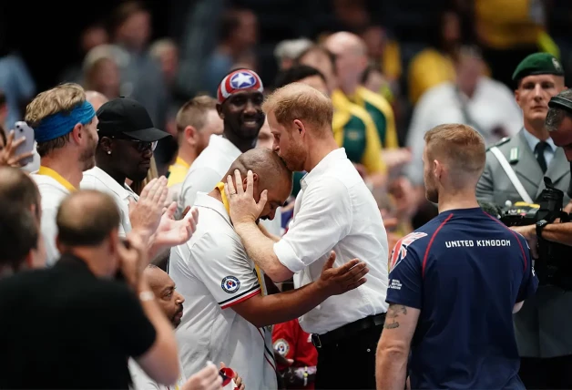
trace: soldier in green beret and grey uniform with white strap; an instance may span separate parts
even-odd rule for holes
[[[476,189],[478,200],[501,207],[523,200],[536,203],[545,176],[565,192],[570,183],[564,150],[557,148],[545,125],[548,101],[566,89],[564,69],[555,56],[536,53],[516,67],[513,81],[524,128],[487,150]],[[568,201],[565,195],[564,204]],[[519,375],[526,388],[572,388],[571,322],[572,292],[554,286],[539,286],[515,314]]]

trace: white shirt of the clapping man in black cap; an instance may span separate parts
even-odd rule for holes
[[[82,190],[98,190],[111,195],[117,203],[121,221],[119,222],[119,236],[131,231],[131,221],[129,220],[129,198],[137,201],[138,194],[133,192],[127,184],[123,186],[117,183],[106,171],[98,167],[86,170],[84,178],[79,183]]]

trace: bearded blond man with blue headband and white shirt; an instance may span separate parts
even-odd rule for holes
[[[77,84],[62,84],[38,94],[26,108],[26,122],[34,128],[40,169],[36,180],[42,196],[42,236],[46,262],[59,257],[56,213],[66,195],[79,188],[83,171],[95,165],[96,111]]]

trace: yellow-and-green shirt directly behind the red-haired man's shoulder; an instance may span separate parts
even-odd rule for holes
[[[353,104],[342,91],[332,93],[333,137],[346,149],[348,159],[363,164],[368,174],[386,172],[381,158],[382,143],[368,112]]]

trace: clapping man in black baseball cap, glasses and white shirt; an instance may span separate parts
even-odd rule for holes
[[[109,100],[97,110],[97,118],[96,166],[84,172],[80,187],[107,192],[116,200],[121,216],[120,236],[137,225],[140,229],[175,233],[167,241],[164,235],[153,236],[161,248],[187,241],[194,231],[196,212],[182,221],[173,221],[177,207],[173,203],[169,212],[161,216],[168,192],[166,178],[151,180],[141,192],[141,201],[125,182],[147,177],[157,141],[170,137],[169,133],[155,128],[147,110],[128,97]]]

